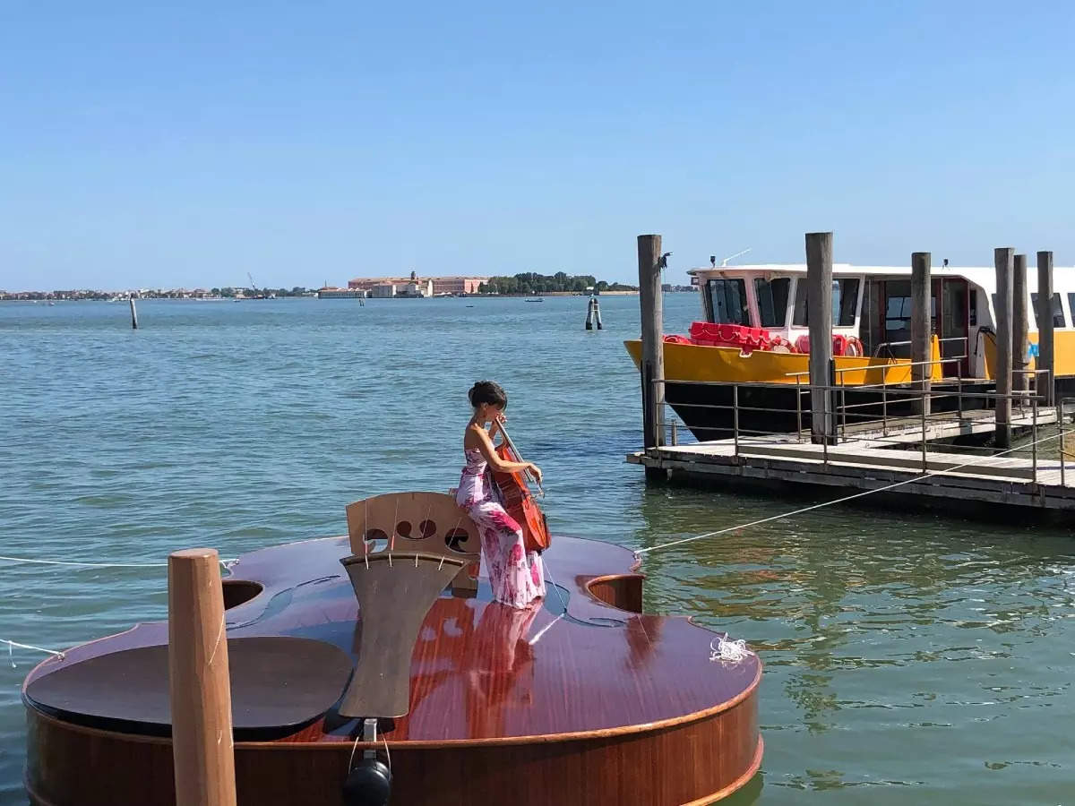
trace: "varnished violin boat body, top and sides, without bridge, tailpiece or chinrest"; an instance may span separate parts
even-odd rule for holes
[[[247,582],[260,592],[233,596],[241,603],[225,614],[229,642],[299,636],[356,661],[361,620],[341,564],[349,555],[350,541],[338,537],[243,556],[230,579],[244,595],[255,590]],[[434,602],[411,657],[410,714],[383,735],[392,803],[500,803],[505,791],[517,806],[704,803],[748,780],[761,749],[758,659],[713,662],[716,633],[632,611],[643,577],[621,547],[556,537],[545,558],[547,579],[561,589],[549,584],[543,606],[493,603],[485,579],[475,598],[446,591]],[[141,624],[45,661],[27,682],[167,639],[167,624]],[[35,802],[171,803],[167,738],[72,724],[28,705]],[[275,742],[236,742],[239,802],[341,804],[357,726],[330,713]],[[87,758],[139,772],[105,779]]]

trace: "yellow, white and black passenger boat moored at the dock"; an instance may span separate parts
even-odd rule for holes
[[[732,387],[686,383],[721,382],[744,385],[739,391],[741,406],[775,409],[752,416],[749,411],[741,413],[745,430],[791,431],[800,423],[808,426],[808,412],[803,417],[797,413],[794,389],[796,374],[809,369],[806,265],[723,265],[692,269],[688,274],[701,291],[703,319],[691,326],[688,335],[665,336],[664,343],[665,399],[679,418],[700,440],[729,435]],[[969,382],[970,388],[993,388],[994,269],[944,265],[934,268],[931,275],[932,354],[938,362],[931,368],[931,377],[940,384],[958,379],[964,391]],[[836,263],[832,277],[836,383],[860,387],[858,402],[876,395],[876,385],[909,383],[909,265]],[[1058,394],[1075,393],[1075,268],[1054,269],[1054,288]],[[1034,369],[1037,272],[1033,267],[1027,272],[1027,306],[1028,369]],[[639,365],[642,342],[629,340],[625,345]],[[798,377],[806,383],[806,375]],[[954,400],[936,403],[955,407]],[[705,408],[704,404],[729,407]],[[803,405],[808,409],[808,400]]]

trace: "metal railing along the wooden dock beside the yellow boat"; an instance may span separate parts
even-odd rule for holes
[[[960,360],[958,357],[954,357],[946,359],[931,359],[930,361],[916,363],[932,364],[958,360]],[[1029,375],[1033,380],[1033,389],[1014,389],[1010,392],[1005,393],[989,391],[983,388],[985,383],[989,383],[988,379],[963,378],[961,376],[945,378],[945,383],[934,382],[934,384],[936,384],[935,386],[929,383],[923,385],[916,380],[912,384],[905,384],[903,387],[893,387],[891,384],[872,384],[861,386],[847,386],[844,384],[811,385],[808,383],[803,384],[800,378],[796,379],[793,387],[788,383],[776,382],[734,383],[716,380],[676,380],[674,383],[677,387],[728,388],[731,392],[731,401],[727,403],[692,403],[687,401],[674,401],[673,403],[677,408],[707,408],[730,412],[731,428],[720,426],[712,428],[697,427],[694,430],[702,433],[711,431],[722,434],[727,434],[730,431],[734,455],[740,456],[741,449],[744,446],[772,446],[778,443],[791,442],[803,443],[813,438],[811,429],[803,428],[804,411],[807,415],[811,411],[809,404],[803,403],[803,398],[805,395],[809,395],[811,393],[827,393],[831,395],[832,400],[832,407],[830,409],[831,433],[828,435],[828,438],[822,438],[820,441],[822,446],[821,459],[826,466],[829,464],[829,446],[838,445],[841,442],[848,442],[848,428],[850,428],[851,441],[865,440],[869,441],[872,446],[876,446],[878,448],[889,446],[909,448],[911,446],[915,446],[917,443],[917,447],[921,452],[922,472],[926,473],[928,472],[929,466],[927,448],[931,440],[948,438],[951,436],[958,436],[961,433],[971,432],[971,427],[980,424],[984,420],[980,416],[974,417],[974,412],[992,409],[997,405],[998,401],[1009,400],[1014,405],[1018,405],[1020,408],[1018,417],[1012,418],[1016,420],[1016,427],[1029,428],[1032,438],[1028,446],[1016,448],[1009,451],[1008,455],[1012,452],[1029,451],[1031,459],[1031,475],[1033,480],[1036,483],[1038,472],[1037,443],[1040,428],[1045,424],[1056,423],[1058,429],[1060,429],[1058,436],[1060,436],[1062,443],[1062,428],[1065,416],[1075,411],[1075,406],[1069,407],[1066,404],[1069,402],[1075,402],[1075,398],[1062,398],[1058,399],[1055,405],[1047,404],[1048,395],[1045,393],[1047,388],[1045,385],[1049,383],[1048,370],[1015,370],[1014,373]],[[951,382],[955,382],[955,384]],[[653,383],[655,385],[663,385],[666,382],[662,378],[656,378]],[[954,385],[955,388],[952,388]],[[787,417],[790,414],[790,409],[787,407],[759,406],[744,403],[741,399],[741,392],[743,390],[782,389],[785,391],[791,391],[792,388],[794,389],[793,393],[796,397],[796,431],[789,432],[788,430],[748,428],[742,424],[741,420],[744,415],[750,418],[751,424],[757,424],[758,420],[766,415],[783,415]],[[882,393],[882,399],[879,401],[871,400],[865,402],[855,402],[852,397],[852,402],[847,402],[848,392],[855,395],[863,392],[869,393],[869,391],[877,389],[879,389]],[[914,414],[911,416],[891,416],[889,412],[890,397],[893,399],[893,402],[914,404]],[[955,411],[931,411],[933,401],[944,399],[955,399]],[[663,433],[669,435],[671,444],[677,445],[679,436],[678,431],[682,424],[674,418],[671,421],[666,418],[664,409],[671,404],[666,402],[665,395],[661,394],[659,400],[663,403],[659,415],[660,427]],[[968,405],[969,402],[971,405]],[[903,407],[905,408],[906,406]],[[848,423],[848,420],[850,420],[850,423]],[[1012,423],[1009,422],[1009,424]],[[723,436],[721,440],[718,440],[718,442],[727,441],[727,436]],[[987,446],[960,446],[960,450],[978,450],[987,455],[995,454],[993,448]],[[1066,459],[1075,458],[1075,454],[1065,456],[1062,444],[1059,452],[1061,484],[1063,484],[1066,472]]]

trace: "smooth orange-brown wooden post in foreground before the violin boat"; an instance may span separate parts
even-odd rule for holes
[[[176,806],[234,806],[224,589],[211,548],[168,558],[168,659]]]

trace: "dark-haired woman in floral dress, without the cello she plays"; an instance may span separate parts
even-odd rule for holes
[[[531,462],[508,462],[492,444],[504,418],[507,394],[499,384],[479,380],[469,392],[474,415],[463,435],[463,467],[456,503],[474,519],[482,531],[482,556],[492,595],[513,607],[527,607],[545,595],[541,556],[526,551],[522,529],[503,507],[491,471],[530,472],[541,481],[541,471]],[[488,431],[486,423],[491,423]]]

